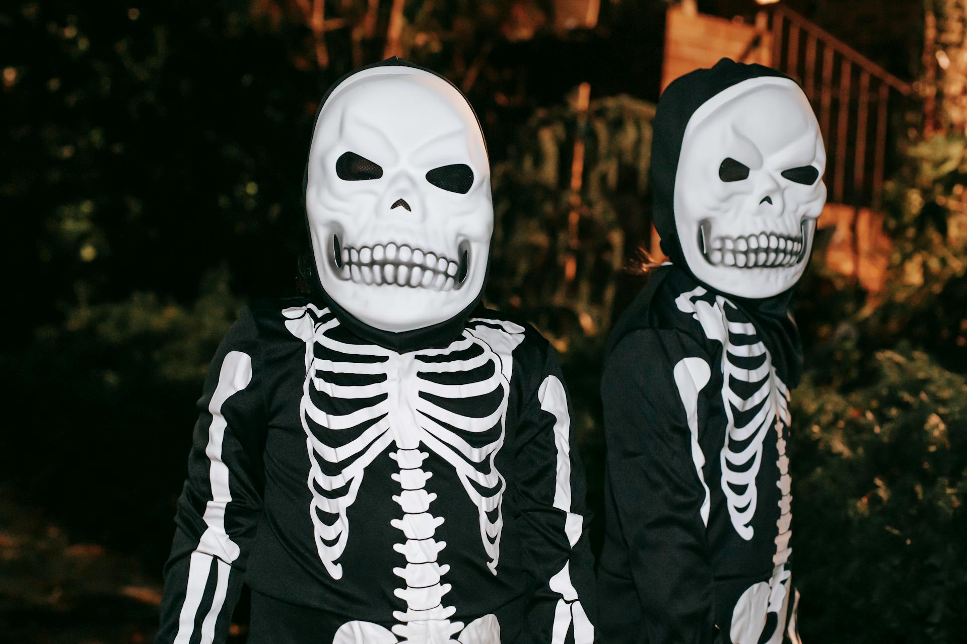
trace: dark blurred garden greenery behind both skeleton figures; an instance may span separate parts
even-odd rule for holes
[[[876,196],[887,242],[876,286],[836,261],[828,227],[798,296],[801,628],[806,642],[964,642],[967,8],[787,4],[914,81],[891,118],[889,181]],[[295,293],[317,101],[385,55],[452,78],[481,116],[497,214],[487,301],[562,352],[598,507],[601,348],[642,286],[641,249],[655,247],[650,124],[668,10],[659,0],[0,9],[0,641],[152,636],[208,360],[247,300]],[[244,610],[238,622],[242,641]]]

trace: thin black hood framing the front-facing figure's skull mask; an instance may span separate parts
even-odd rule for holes
[[[456,87],[454,83],[450,81],[449,78],[446,78],[445,76],[438,74],[436,71],[427,70],[425,67],[414,65],[409,61],[405,61],[401,58],[396,58],[396,56],[394,56],[392,58],[387,58],[384,61],[373,63],[372,65],[366,65],[365,67],[361,67],[357,70],[352,70],[349,73],[344,74],[335,83],[333,83],[326,91],[326,94],[323,95],[322,100],[319,101],[319,107],[316,109],[316,112],[315,112],[315,119],[312,121],[312,132],[313,133],[315,132],[315,127],[316,127],[316,124],[318,123],[319,115],[322,113],[323,106],[326,104],[326,101],[329,99],[330,96],[332,96],[333,92],[336,90],[336,88],[339,85],[344,83],[350,77],[360,73],[361,71],[371,70],[372,68],[377,68],[377,67],[393,67],[393,66],[414,68],[417,70],[424,70],[429,73],[432,73],[434,76],[442,78],[443,80],[450,83],[450,85],[454,87],[454,90],[459,92],[460,96],[463,97],[464,100],[466,100],[466,97],[463,95],[463,93],[460,92],[459,88]],[[473,105],[470,105],[469,100],[467,100],[467,105],[470,106],[471,111],[474,111]],[[474,111],[475,116],[476,114],[477,114],[476,111]],[[477,119],[477,126],[480,127],[479,118]],[[483,136],[483,128],[482,128],[482,136]],[[309,145],[311,147],[311,138],[310,138]],[[484,139],[484,146],[485,145],[486,143]],[[308,163],[309,161],[308,161],[308,153],[307,153],[306,170],[303,174],[303,210],[306,216],[306,235],[308,239],[309,248],[311,248],[312,238],[309,232],[308,209],[306,207],[306,190],[308,189]],[[477,309],[479,306],[481,306],[481,299],[483,299],[484,297],[484,289],[486,288],[487,276],[489,275],[489,271],[490,271],[490,254],[487,253],[486,273],[484,274],[484,282],[481,285],[480,293],[477,294],[477,296],[473,299],[472,302],[470,302],[470,304],[467,305],[466,308],[464,308],[462,311],[460,311],[450,320],[437,322],[435,324],[424,326],[422,328],[413,329],[411,331],[398,331],[398,332],[386,331],[380,328],[376,328],[374,326],[370,326],[369,324],[366,324],[366,322],[359,320],[351,313],[346,311],[344,308],[339,306],[336,300],[330,297],[330,295],[326,293],[326,290],[322,288],[322,283],[319,281],[319,271],[315,266],[314,260],[309,262],[309,264],[311,266],[310,268],[311,276],[309,277],[308,281],[312,288],[314,297],[317,299],[320,299],[322,302],[325,303],[326,306],[328,306],[333,311],[333,313],[336,315],[337,320],[341,325],[347,327],[349,330],[351,330],[353,333],[363,338],[367,342],[371,342],[372,344],[379,345],[380,347],[384,347],[386,349],[395,350],[400,353],[405,353],[408,351],[427,349],[430,347],[446,347],[451,342],[453,342],[456,338],[460,337],[460,335],[463,332],[463,328],[466,325],[467,319],[470,317],[470,314],[473,313],[473,311]]]

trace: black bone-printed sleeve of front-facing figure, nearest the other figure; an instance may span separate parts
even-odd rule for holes
[[[591,644],[594,560],[588,543],[584,467],[553,348],[524,392],[514,450],[524,562],[533,585],[520,642]]]

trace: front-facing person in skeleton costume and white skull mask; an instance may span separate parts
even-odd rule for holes
[[[554,350],[484,309],[484,137],[398,59],[323,100],[316,298],[251,305],[212,363],[158,642],[590,643],[584,478]]]

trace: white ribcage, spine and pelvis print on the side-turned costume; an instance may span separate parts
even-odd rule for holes
[[[783,434],[791,422],[789,390],[778,378],[769,350],[758,338],[754,326],[738,314],[728,298],[715,295],[714,301],[709,301],[708,292],[697,287],[679,295],[675,304],[701,324],[707,338],[722,345],[721,396],[727,426],[719,457],[721,489],[732,526],[746,541],[753,536],[750,523],[758,500],[755,479],[762,462],[763,442],[771,431],[777,433],[777,486],[781,498],[773,575],[768,583],[755,583],[743,593],[733,610],[729,633],[735,644],[758,644],[768,613],[776,613],[776,630],[766,643],[777,644],[782,641],[791,576],[786,564],[792,554],[789,547],[792,495]]]

